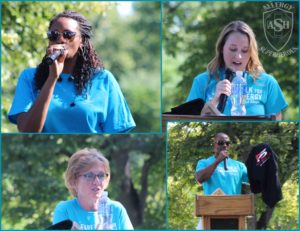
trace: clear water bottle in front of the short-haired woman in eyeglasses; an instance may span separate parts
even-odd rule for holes
[[[109,230],[115,228],[115,225],[112,223],[112,206],[106,191],[102,193],[99,201],[98,216],[100,229]]]

